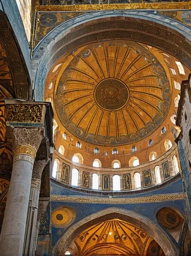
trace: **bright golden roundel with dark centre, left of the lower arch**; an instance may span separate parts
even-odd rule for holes
[[[75,220],[75,218],[75,210],[68,206],[61,206],[54,209],[52,212],[52,223],[54,227],[67,227]]]

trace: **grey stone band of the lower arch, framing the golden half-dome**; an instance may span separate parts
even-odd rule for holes
[[[146,231],[150,237],[156,240],[166,256],[179,255],[175,245],[171,242],[168,235],[160,226],[156,225],[153,221],[145,216],[138,213],[135,215],[134,211],[117,207],[107,208],[94,214],[90,214],[77,223],[71,225],[56,243],[53,249],[53,255],[63,255],[64,251],[67,249],[74,237],[78,236],[80,232],[82,232],[85,228],[90,227],[92,224],[99,223],[101,218],[102,221],[114,218],[127,220],[128,218],[129,222],[132,224],[138,223],[140,229]]]

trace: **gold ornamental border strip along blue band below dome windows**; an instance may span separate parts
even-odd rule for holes
[[[98,197],[68,197],[65,195],[51,196],[51,201],[64,201],[76,203],[99,203],[99,204],[135,204],[135,203],[155,203],[162,201],[183,200],[183,194],[167,194],[151,197],[135,198],[98,198]]]

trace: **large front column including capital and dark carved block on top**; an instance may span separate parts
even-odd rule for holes
[[[44,135],[43,102],[5,100],[8,130],[13,140],[13,170],[0,240],[0,254],[21,256],[33,164]]]

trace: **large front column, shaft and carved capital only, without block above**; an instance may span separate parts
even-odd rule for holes
[[[10,130],[13,139],[13,170],[1,233],[0,255],[21,256],[33,164],[44,129],[43,127],[10,127]]]

